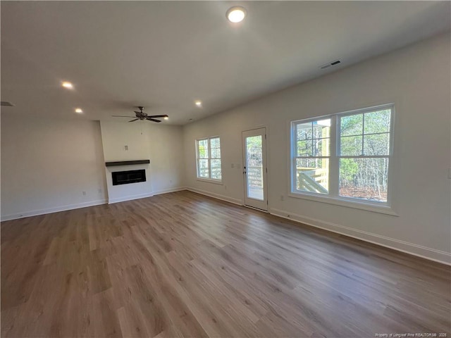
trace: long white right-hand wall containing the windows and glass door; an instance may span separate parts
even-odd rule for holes
[[[266,125],[271,213],[450,263],[450,60],[441,35],[185,125],[186,185],[242,203],[242,170],[231,163],[242,163],[242,130]],[[290,120],[391,102],[399,216],[287,196]],[[211,135],[221,137],[223,185],[196,180],[194,140]]]

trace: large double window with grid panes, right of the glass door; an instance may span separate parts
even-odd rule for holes
[[[291,192],[387,207],[393,105],[293,121]]]

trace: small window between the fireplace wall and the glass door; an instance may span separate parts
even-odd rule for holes
[[[221,141],[219,137],[198,139],[197,177],[221,181]]]

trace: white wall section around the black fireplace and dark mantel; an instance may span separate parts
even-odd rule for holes
[[[183,187],[183,129],[180,126],[156,125],[148,121],[101,122],[101,135],[105,161],[150,160],[146,167],[147,193],[161,194]],[[128,150],[125,150],[128,146]],[[114,167],[112,167],[114,168]],[[137,168],[130,166],[128,170]],[[139,168],[137,168],[139,169]],[[107,169],[107,175],[111,175]],[[117,189],[130,189],[139,184],[127,184]],[[110,187],[111,188],[111,187]],[[139,188],[139,187],[138,187]],[[143,194],[142,189],[137,194]],[[116,199],[118,196],[113,196]]]

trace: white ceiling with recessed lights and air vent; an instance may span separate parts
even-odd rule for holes
[[[449,1],[1,1],[2,113],[185,124],[448,30]]]

